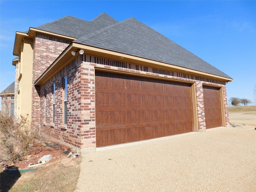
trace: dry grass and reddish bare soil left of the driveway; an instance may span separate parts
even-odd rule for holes
[[[74,192],[80,173],[80,156],[68,158],[64,149],[68,148],[52,140],[40,138],[33,146],[32,161],[51,154],[52,160],[34,167],[36,170],[24,172],[31,160],[14,165],[16,172],[0,171],[0,192]],[[39,153],[38,153],[39,152]],[[2,162],[3,163],[3,162]]]

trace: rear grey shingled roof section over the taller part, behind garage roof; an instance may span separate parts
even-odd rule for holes
[[[106,26],[110,26],[117,22],[117,20],[110,17],[106,13],[100,14],[92,21],[86,21],[72,16],[65,16],[53,22],[35,27],[35,29],[68,37],[80,38],[86,34],[90,34],[96,30],[105,28]],[[25,33],[28,33],[28,31]]]

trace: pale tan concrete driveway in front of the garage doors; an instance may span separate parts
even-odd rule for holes
[[[254,192],[252,128],[212,128],[82,154],[76,192]]]

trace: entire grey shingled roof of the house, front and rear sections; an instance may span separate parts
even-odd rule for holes
[[[77,38],[76,43],[232,79],[135,18],[118,22],[106,13],[92,21],[66,16],[36,29]]]

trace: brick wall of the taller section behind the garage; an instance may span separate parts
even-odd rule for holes
[[[70,44],[70,41],[36,34],[33,52],[33,84],[56,58]],[[32,122],[37,126],[40,120],[40,87],[32,86]]]

